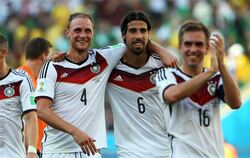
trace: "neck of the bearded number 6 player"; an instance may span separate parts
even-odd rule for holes
[[[141,54],[135,54],[127,50],[122,57],[122,61],[134,67],[142,67],[147,63],[148,57],[149,55],[146,51]]]

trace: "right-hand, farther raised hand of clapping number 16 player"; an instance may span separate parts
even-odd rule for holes
[[[224,56],[225,56],[224,39],[221,34],[213,33],[210,37],[210,42],[212,43],[213,48],[216,51],[218,64],[220,67],[224,65]]]

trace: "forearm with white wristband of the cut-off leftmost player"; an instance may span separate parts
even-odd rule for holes
[[[37,137],[38,137],[38,125],[37,125],[37,113],[36,111],[29,111],[24,114],[25,121],[25,138],[27,139],[27,158],[37,157]]]

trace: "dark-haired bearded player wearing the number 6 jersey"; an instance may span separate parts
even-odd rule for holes
[[[112,71],[107,98],[114,116],[119,158],[168,158],[170,144],[155,75],[161,60],[146,49],[151,24],[145,13],[128,12],[121,21],[127,50]]]

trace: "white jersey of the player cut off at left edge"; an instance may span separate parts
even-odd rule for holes
[[[36,110],[30,78],[11,69],[0,78],[0,157],[24,158],[22,116]]]

